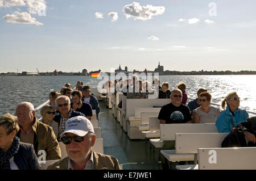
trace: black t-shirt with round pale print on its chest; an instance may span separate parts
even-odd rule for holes
[[[187,106],[180,104],[179,107],[176,107],[172,103],[161,108],[158,119],[165,120],[166,124],[187,123],[192,120]]]

